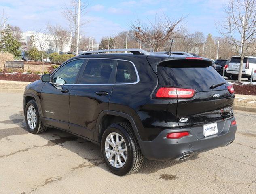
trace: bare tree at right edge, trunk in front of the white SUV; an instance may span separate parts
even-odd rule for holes
[[[218,31],[240,53],[238,82],[241,82],[243,58],[256,43],[256,0],[230,0],[224,12],[226,18],[218,23]]]

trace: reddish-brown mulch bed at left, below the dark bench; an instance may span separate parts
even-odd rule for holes
[[[17,75],[1,74],[0,75],[0,80],[6,80],[6,81],[34,82],[39,79],[40,79],[40,76],[35,74],[17,74]]]

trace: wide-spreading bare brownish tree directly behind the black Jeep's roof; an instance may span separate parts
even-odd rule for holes
[[[174,34],[177,34],[182,25],[184,17],[171,20],[163,14],[155,15],[153,22],[148,20],[149,24],[142,24],[140,21],[131,22],[131,28],[135,30],[135,36],[150,46],[154,51],[159,51]]]

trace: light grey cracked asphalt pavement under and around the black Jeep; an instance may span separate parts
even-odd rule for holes
[[[256,114],[235,111],[230,146],[182,162],[144,160],[140,171],[108,171],[99,146],[50,129],[25,130],[22,91],[0,90],[0,193],[256,193]]]

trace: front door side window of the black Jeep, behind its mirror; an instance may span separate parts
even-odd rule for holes
[[[53,76],[53,83],[56,84],[74,84],[80,67],[84,59],[70,61],[61,67]]]

